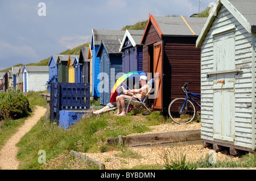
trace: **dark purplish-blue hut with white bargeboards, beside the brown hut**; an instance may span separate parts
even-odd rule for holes
[[[122,52],[123,73],[142,71],[143,47],[141,39],[143,30],[126,30],[119,52]]]

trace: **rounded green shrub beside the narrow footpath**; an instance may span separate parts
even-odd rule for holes
[[[19,119],[30,112],[28,99],[19,91],[0,92],[0,120]]]

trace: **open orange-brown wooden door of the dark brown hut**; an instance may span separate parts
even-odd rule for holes
[[[154,108],[163,111],[163,41],[154,44]]]

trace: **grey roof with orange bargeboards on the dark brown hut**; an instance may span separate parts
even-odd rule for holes
[[[141,40],[143,43],[144,36],[148,31],[149,24],[155,27],[156,32],[162,38],[162,36],[198,36],[201,28],[207,18],[192,18],[192,17],[171,17],[171,16],[149,16],[147,26],[144,30],[144,34]]]

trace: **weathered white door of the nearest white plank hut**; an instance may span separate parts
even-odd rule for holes
[[[234,141],[234,32],[214,37],[213,138]]]

